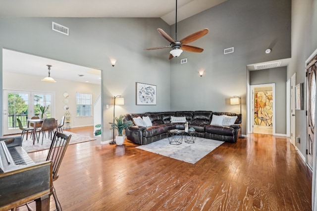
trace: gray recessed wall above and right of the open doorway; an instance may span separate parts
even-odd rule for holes
[[[279,67],[250,72],[250,85],[275,84],[275,132],[286,134],[286,72]]]

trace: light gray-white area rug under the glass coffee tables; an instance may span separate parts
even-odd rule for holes
[[[169,144],[167,138],[164,138],[151,144],[141,145],[136,148],[174,158],[190,164],[195,164],[222,143],[224,142],[197,137],[195,143],[192,144],[186,143],[183,139],[181,144],[172,145]]]

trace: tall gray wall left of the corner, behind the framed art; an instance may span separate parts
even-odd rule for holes
[[[69,36],[54,32],[52,21],[68,27]],[[125,105],[117,106],[116,116],[128,112],[170,109],[169,61],[166,54],[160,50],[144,50],[147,47],[166,45],[157,32],[159,27],[169,33],[170,27],[159,18],[0,18],[0,49],[8,48],[101,69],[104,96],[103,139],[109,140],[112,132],[108,123],[112,122],[114,95],[125,98]],[[109,57],[117,59],[114,67],[111,66]],[[157,105],[135,105],[136,82],[157,85]],[[2,89],[2,50],[0,88]],[[106,104],[109,104],[108,109]],[[2,100],[0,108],[2,110]],[[2,134],[1,127],[0,135]]]

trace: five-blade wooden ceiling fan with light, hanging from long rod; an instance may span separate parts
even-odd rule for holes
[[[209,30],[202,29],[202,30],[195,32],[195,33],[187,36],[186,38],[183,38],[182,40],[178,41],[177,40],[177,0],[176,0],[175,41],[162,29],[158,28],[158,32],[161,36],[163,36],[163,38],[165,38],[168,42],[170,42],[170,44],[167,46],[147,48],[147,50],[155,50],[155,49],[171,47],[172,50],[169,52],[170,54],[169,54],[168,59],[172,59],[173,57],[180,56],[180,54],[183,52],[183,50],[190,51],[190,52],[196,52],[196,53],[203,52],[203,50],[204,50],[203,48],[192,46],[192,45],[187,45],[187,44],[190,42],[196,41],[199,38],[207,35]]]

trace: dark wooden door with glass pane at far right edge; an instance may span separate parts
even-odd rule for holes
[[[316,62],[308,66],[307,85],[307,164],[313,169],[314,128],[315,128],[315,104],[316,104]]]

